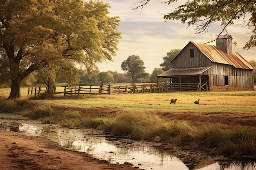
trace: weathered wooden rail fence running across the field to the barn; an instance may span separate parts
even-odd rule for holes
[[[128,93],[164,93],[168,91],[208,91],[208,85],[198,83],[170,83],[170,82],[144,82],[131,85],[114,85],[103,84],[100,85],[77,85],[77,86],[61,86],[64,91],[56,91],[54,88],[54,94],[64,95],[82,95],[82,94],[128,94]],[[31,88],[31,92],[30,92]],[[34,91],[33,91],[34,89]],[[47,91],[47,88],[45,88]],[[29,87],[27,95],[31,93],[39,95],[44,93],[41,86],[39,88]]]

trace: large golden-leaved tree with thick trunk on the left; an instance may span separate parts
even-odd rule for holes
[[[8,59],[9,98],[19,98],[22,80],[49,64],[80,65],[90,73],[97,62],[112,60],[120,20],[109,17],[108,9],[99,1],[0,0],[0,51],[6,54],[0,57]]]

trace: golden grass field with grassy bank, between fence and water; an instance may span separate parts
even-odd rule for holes
[[[256,157],[256,91],[63,95],[4,100],[0,109],[70,128],[100,128],[117,136],[161,142],[225,156]],[[171,104],[172,98],[177,103]],[[200,105],[193,102],[200,99]],[[214,150],[214,152],[213,152]]]

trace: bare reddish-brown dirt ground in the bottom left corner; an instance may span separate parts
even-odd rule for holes
[[[84,152],[68,151],[58,144],[22,132],[0,130],[1,170],[136,170],[110,164]]]

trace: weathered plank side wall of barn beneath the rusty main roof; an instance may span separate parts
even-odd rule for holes
[[[212,63],[209,69],[209,85],[224,86],[225,75],[229,76],[229,86],[250,87],[253,85],[253,71],[220,63]]]

